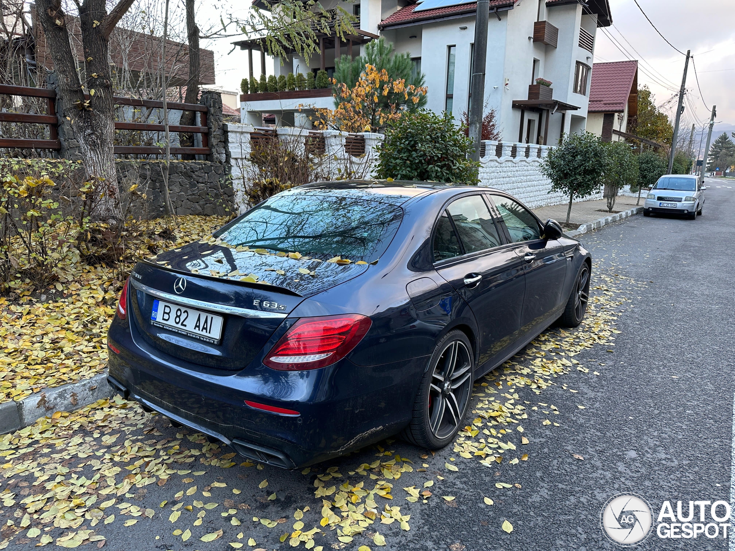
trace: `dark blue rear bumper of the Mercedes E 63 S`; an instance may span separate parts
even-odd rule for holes
[[[115,318],[108,339],[118,390],[237,453],[295,469],[359,449],[400,431],[410,419],[428,358],[362,367],[343,359],[319,370],[280,372],[259,361],[241,372],[194,368],[134,338]],[[245,400],[298,411],[270,413]]]

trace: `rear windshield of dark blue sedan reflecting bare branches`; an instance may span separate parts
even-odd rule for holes
[[[229,245],[373,262],[403,218],[394,205],[364,196],[296,192],[275,195],[215,234]]]

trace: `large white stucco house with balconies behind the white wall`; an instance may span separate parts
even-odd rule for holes
[[[259,1],[259,0],[256,0]],[[340,4],[359,16],[359,33],[345,43],[320,37],[321,54],[306,65],[292,56],[276,74],[334,68],[340,54],[358,54],[358,47],[379,36],[407,52],[426,75],[427,108],[448,110],[459,119],[470,100],[470,72],[477,4],[460,0],[359,0]],[[608,0],[490,0],[486,112],[495,109],[502,139],[555,145],[559,136],[587,126],[589,87],[595,38],[600,26],[612,24]],[[257,40],[237,43],[252,58]],[[264,54],[262,54],[264,55]],[[252,64],[250,64],[252,68]],[[536,79],[551,81],[551,87]],[[270,97],[273,95],[273,97]],[[294,97],[291,97],[294,96]],[[299,104],[332,107],[328,90],[298,90],[240,97],[243,123],[261,123],[273,113],[284,124],[306,123]],[[294,115],[295,113],[295,115]]]

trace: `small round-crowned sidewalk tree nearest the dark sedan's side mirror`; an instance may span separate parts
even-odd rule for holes
[[[539,170],[551,180],[549,193],[562,192],[569,196],[567,224],[572,201],[589,197],[600,189],[605,162],[605,145],[591,132],[564,135],[559,147],[549,150],[541,160]]]

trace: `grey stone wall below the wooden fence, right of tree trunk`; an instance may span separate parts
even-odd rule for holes
[[[138,184],[145,200],[132,204],[132,215],[155,218],[165,215],[162,160],[115,161],[122,190]],[[172,161],[168,169],[168,194],[177,215],[225,215],[232,212],[233,190],[229,165],[209,161]]]

